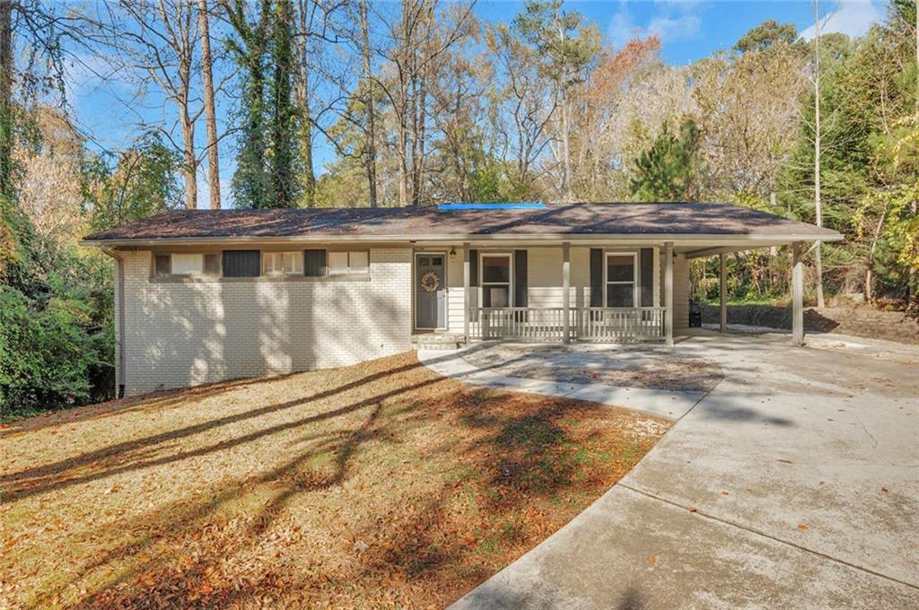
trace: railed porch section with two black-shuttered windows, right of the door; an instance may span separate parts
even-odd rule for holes
[[[676,309],[679,325],[688,325],[688,265],[673,243],[561,243],[510,251],[464,243],[461,252],[462,336],[468,342],[673,345]],[[678,308],[675,284],[684,300]]]

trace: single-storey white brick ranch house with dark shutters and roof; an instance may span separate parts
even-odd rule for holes
[[[690,259],[818,239],[841,236],[714,204],[526,204],[180,211],[85,243],[118,262],[131,395],[354,364],[419,337],[671,344]]]

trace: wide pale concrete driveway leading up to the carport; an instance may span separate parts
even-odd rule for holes
[[[720,383],[624,480],[454,607],[919,607],[919,349],[808,340],[676,345],[718,363]]]

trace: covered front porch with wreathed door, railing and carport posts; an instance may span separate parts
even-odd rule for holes
[[[689,262],[712,255],[719,256],[721,263],[723,332],[725,254],[743,246],[699,245],[482,242],[426,248],[416,244],[415,343],[673,345],[675,334],[689,326]],[[794,244],[792,254],[797,312],[802,292],[800,243]],[[795,340],[800,343],[800,330]]]

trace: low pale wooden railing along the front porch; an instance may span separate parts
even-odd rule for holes
[[[664,339],[663,307],[477,307],[469,311],[471,340],[558,342],[568,315],[572,341],[625,343]]]

